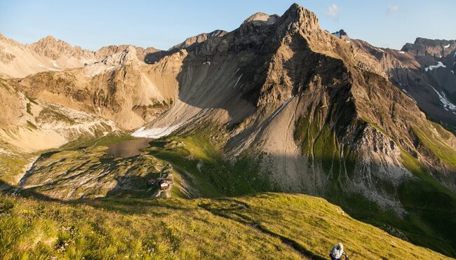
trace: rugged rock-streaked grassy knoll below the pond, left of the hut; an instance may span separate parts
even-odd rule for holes
[[[104,158],[106,149],[89,146],[43,153],[21,194],[69,200],[81,196],[150,198],[158,187],[147,181],[159,177],[164,163],[149,155]]]

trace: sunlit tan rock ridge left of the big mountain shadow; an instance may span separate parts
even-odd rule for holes
[[[161,65],[148,66],[138,60],[137,48],[128,46],[85,67],[34,74],[15,84],[27,95],[103,116],[131,130],[156,118],[175,100],[175,85],[161,83],[172,82],[168,76],[152,72]]]

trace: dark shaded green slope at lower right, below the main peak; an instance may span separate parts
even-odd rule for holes
[[[346,157],[350,153],[344,152]],[[416,243],[443,252],[447,255],[456,254],[456,198],[455,195],[431,177],[426,167],[409,153],[402,150],[403,165],[415,175],[415,179],[405,180],[397,191],[389,189],[389,185],[378,182],[384,191],[396,196],[407,211],[399,216],[394,211],[367,200],[361,194],[344,193],[340,184],[331,184],[328,200],[340,205],[354,218],[384,228],[385,225],[403,233],[405,237]],[[347,161],[346,161],[346,165]],[[347,172],[350,170],[347,169]]]

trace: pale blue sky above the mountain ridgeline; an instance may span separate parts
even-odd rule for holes
[[[0,0],[0,33],[22,43],[53,35],[90,50],[168,49],[201,32],[232,31],[259,11],[281,15],[293,2],[316,13],[323,29],[344,29],[375,46],[401,48],[417,36],[456,39],[455,0]]]

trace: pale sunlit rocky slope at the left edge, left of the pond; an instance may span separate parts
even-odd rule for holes
[[[6,153],[52,149],[81,135],[96,137],[118,130],[101,116],[27,97],[4,80],[0,80],[0,100],[0,144]]]

